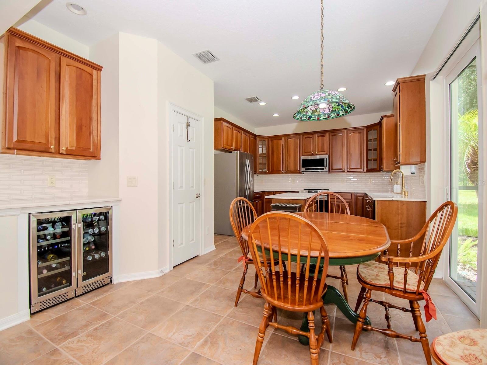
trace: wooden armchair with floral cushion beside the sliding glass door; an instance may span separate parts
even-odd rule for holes
[[[426,328],[421,318],[418,301],[424,300],[427,322],[431,317],[436,319],[436,310],[427,293],[431,284],[436,265],[443,247],[448,242],[457,218],[458,208],[453,201],[447,201],[434,211],[418,234],[409,239],[392,240],[397,244],[397,256],[389,256],[387,250],[381,255],[381,260],[387,264],[369,261],[358,265],[357,279],[362,285],[358,295],[355,311],[363,302],[356,322],[352,350],[355,349],[362,329],[380,332],[393,338],[403,338],[412,342],[421,342],[426,362],[431,365],[431,351],[426,335]],[[413,257],[413,245],[420,244],[420,255]],[[409,257],[400,257],[400,246],[409,245]],[[401,266],[399,266],[401,265]],[[409,300],[410,308],[402,308],[386,301],[371,298],[372,291],[385,292],[394,297]],[[387,329],[375,328],[364,324],[367,307],[370,302],[380,304],[385,308]],[[412,314],[414,328],[419,332],[419,338],[396,332],[391,327],[389,309],[398,309]]]

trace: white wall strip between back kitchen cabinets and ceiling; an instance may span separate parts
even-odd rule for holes
[[[393,95],[391,93],[391,108]],[[381,113],[371,113],[362,115],[348,115],[330,121],[309,121],[283,124],[280,126],[255,128],[255,133],[261,136],[271,136],[275,134],[312,132],[315,130],[362,127],[377,123],[381,115],[390,114],[391,110]]]

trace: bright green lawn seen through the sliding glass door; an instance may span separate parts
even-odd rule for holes
[[[479,201],[475,190],[458,191],[458,234],[478,237]]]

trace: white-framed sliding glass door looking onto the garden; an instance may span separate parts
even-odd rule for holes
[[[484,180],[479,42],[446,78],[450,117],[450,199],[458,219],[450,238],[447,282],[478,315]],[[480,132],[480,133],[479,133]]]

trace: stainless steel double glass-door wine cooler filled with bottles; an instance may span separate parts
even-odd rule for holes
[[[112,207],[30,215],[31,313],[110,283]]]

